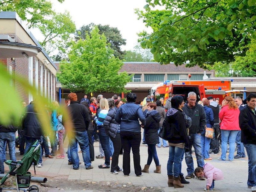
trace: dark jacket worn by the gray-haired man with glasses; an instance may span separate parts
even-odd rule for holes
[[[189,116],[192,120],[192,125],[189,128],[189,134],[193,133],[202,133],[205,129],[206,125],[206,116],[204,112],[204,108],[202,105],[196,105],[194,107],[188,106],[188,101],[185,103],[184,107],[182,108],[184,113]]]

